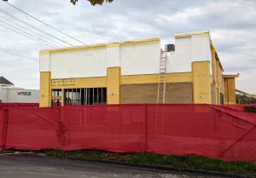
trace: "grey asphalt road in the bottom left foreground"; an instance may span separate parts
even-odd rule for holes
[[[111,164],[44,158],[33,155],[6,155],[0,152],[0,178],[217,178],[164,170],[141,169]],[[220,178],[220,177],[218,177]]]

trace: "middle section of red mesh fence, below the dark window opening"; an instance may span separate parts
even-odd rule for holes
[[[66,150],[145,151],[145,106],[66,107],[61,115]]]

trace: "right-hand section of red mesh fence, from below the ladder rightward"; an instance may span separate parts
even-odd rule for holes
[[[233,114],[222,106],[148,106],[148,152],[255,162],[256,115]]]

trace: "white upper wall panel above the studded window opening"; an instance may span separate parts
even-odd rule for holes
[[[50,55],[51,78],[107,76],[106,48],[68,51]]]

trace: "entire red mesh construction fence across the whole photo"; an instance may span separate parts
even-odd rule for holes
[[[98,149],[256,162],[243,106],[106,105],[0,109],[0,149]],[[2,147],[1,147],[2,146]]]

